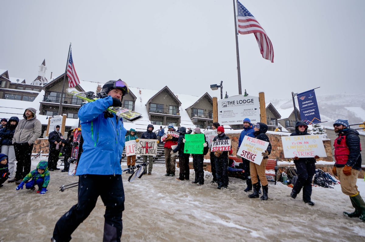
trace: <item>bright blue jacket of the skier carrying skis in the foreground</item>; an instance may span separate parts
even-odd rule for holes
[[[89,102],[78,111],[84,144],[76,175],[120,175],[120,158],[127,130],[122,118],[104,117],[104,110],[113,104],[111,96]]]

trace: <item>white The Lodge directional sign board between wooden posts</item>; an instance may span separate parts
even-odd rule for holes
[[[251,124],[260,122],[258,97],[237,95],[218,101],[218,122],[220,125],[243,124],[249,118]]]

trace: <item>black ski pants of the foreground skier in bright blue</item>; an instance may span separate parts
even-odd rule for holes
[[[80,175],[77,204],[59,218],[53,238],[56,241],[70,241],[71,234],[89,216],[99,196],[106,207],[103,241],[120,242],[124,210],[122,175]]]

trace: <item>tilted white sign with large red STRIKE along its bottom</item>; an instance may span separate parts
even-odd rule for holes
[[[237,155],[260,165],[262,159],[264,158],[261,153],[265,152],[268,146],[269,142],[246,135],[243,137],[241,146],[237,151]]]

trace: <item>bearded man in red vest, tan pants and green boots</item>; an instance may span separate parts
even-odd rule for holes
[[[350,218],[365,221],[365,202],[357,190],[356,182],[361,172],[361,144],[359,133],[349,128],[347,120],[338,119],[333,127],[338,137],[334,141],[335,165],[332,172],[338,176],[343,194],[350,197],[354,212],[343,212]]]

